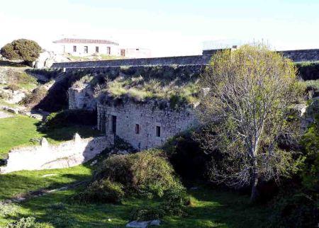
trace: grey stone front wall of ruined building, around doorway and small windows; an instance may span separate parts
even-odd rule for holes
[[[116,116],[116,135],[132,144],[135,149],[160,147],[170,137],[197,125],[193,108],[172,110],[159,108],[157,101],[134,103],[125,101],[113,106],[97,104],[98,128],[106,132],[106,137],[113,140],[113,117]],[[135,132],[136,125],[140,133]],[[156,127],[160,127],[160,137],[156,135]]]

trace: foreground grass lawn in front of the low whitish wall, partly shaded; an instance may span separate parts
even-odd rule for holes
[[[57,188],[67,183],[90,178],[92,166],[46,171],[19,171],[0,176],[0,200],[38,188]],[[45,174],[56,176],[43,177]],[[145,205],[157,205],[159,200],[129,198],[121,204],[78,205],[70,203],[70,195],[83,187],[57,191],[30,198],[16,204],[16,214],[1,217],[0,227],[19,217],[36,217],[55,227],[125,227],[132,210]],[[186,208],[186,217],[164,217],[161,227],[267,227],[268,210],[249,205],[247,196],[220,190],[199,188],[189,190],[194,205]]]

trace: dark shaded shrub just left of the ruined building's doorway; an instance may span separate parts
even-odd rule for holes
[[[82,109],[67,109],[47,116],[47,128],[67,127],[69,125],[96,125],[96,112]]]

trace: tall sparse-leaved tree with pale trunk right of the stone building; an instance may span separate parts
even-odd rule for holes
[[[293,62],[264,46],[243,46],[219,52],[201,79],[206,96],[198,116],[206,126],[197,135],[206,152],[218,151],[213,181],[229,186],[252,185],[257,198],[260,178],[278,178],[293,169],[291,153],[277,139],[294,131],[287,115],[301,98]]]

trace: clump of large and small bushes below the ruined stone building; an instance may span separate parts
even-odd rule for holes
[[[158,149],[110,156],[94,175],[94,181],[74,197],[83,203],[118,203],[127,196],[163,197],[170,190],[184,190],[174,170]]]

